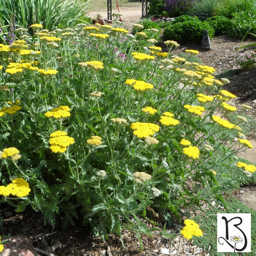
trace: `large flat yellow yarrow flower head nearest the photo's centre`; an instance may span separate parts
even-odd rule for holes
[[[153,136],[160,129],[159,125],[142,122],[132,123],[131,128],[134,130],[133,134],[139,138]]]

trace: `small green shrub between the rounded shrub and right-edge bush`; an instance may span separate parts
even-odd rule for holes
[[[227,34],[231,29],[231,20],[224,16],[213,16],[205,20],[215,30],[215,35]]]

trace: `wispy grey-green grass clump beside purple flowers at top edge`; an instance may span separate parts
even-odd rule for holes
[[[218,0],[196,0],[191,3],[186,13],[197,16],[200,20],[205,20],[215,15],[217,4]]]

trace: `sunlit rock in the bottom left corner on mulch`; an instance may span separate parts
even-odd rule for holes
[[[7,240],[7,239],[1,239]],[[32,241],[26,236],[11,236],[9,242],[3,244],[0,256],[40,256],[33,247]]]

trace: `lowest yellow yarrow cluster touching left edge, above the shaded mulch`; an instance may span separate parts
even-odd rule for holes
[[[0,186],[0,195],[3,196],[14,195],[17,197],[24,197],[28,195],[29,192],[29,183],[23,178],[16,178],[7,186]]]

